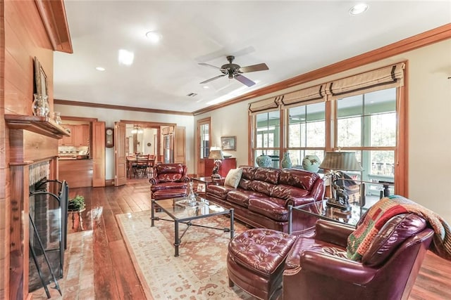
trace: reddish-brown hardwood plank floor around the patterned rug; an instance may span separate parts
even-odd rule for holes
[[[95,299],[145,299],[132,259],[118,228],[116,214],[150,209],[149,183],[146,179],[129,180],[127,185],[106,188],[72,188],[70,197],[85,196],[85,230],[93,230]],[[68,233],[78,231],[68,222]],[[89,272],[92,270],[83,270]],[[63,299],[86,299],[74,290]],[[52,297],[54,299],[54,297]],[[409,297],[451,299],[451,261],[428,252]]]

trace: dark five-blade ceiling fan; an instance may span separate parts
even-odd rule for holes
[[[216,67],[215,65],[210,65],[208,63],[199,63],[199,65],[205,65],[206,67],[214,67],[215,69],[220,70],[223,73],[216,77],[206,79],[205,81],[200,82],[200,84],[206,84],[207,82],[213,81],[214,79],[218,79],[220,77],[228,75],[228,78],[230,79],[235,78],[242,84],[245,84],[247,86],[253,86],[255,82],[243,76],[242,73],[269,70],[266,63],[259,63],[257,65],[248,65],[247,67],[240,67],[240,65],[232,63],[234,59],[235,56],[227,56],[228,63],[226,63],[226,65],[222,65],[221,67]]]

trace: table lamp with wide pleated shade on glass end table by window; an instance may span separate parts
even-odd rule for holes
[[[351,209],[348,201],[349,195],[347,195],[345,186],[338,185],[337,180],[341,176],[341,171],[363,171],[357,162],[355,152],[326,152],[326,157],[319,167],[329,170],[332,195],[327,200],[327,206],[349,211]]]

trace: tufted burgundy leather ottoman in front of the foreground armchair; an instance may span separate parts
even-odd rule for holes
[[[235,284],[258,299],[274,299],[281,292],[285,259],[296,238],[266,228],[233,237],[227,256],[229,286]]]

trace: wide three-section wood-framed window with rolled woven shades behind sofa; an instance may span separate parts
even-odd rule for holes
[[[396,186],[407,196],[404,68],[389,65],[250,103],[252,159],[273,155],[279,167],[279,154],[287,151],[298,167],[305,155],[322,161],[325,151],[355,151],[364,171],[352,178],[368,182],[371,193],[394,193]]]

